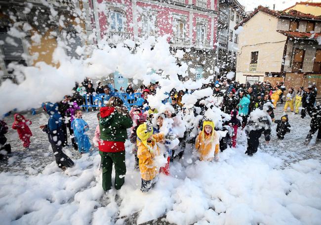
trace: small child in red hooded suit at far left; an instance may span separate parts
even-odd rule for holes
[[[21,121],[17,120],[18,115],[21,116],[22,118]],[[30,137],[32,136],[32,133],[28,126],[31,124],[32,124],[31,120],[26,120],[23,115],[18,113],[14,114],[14,122],[12,124],[12,129],[17,130],[19,138],[20,140],[22,140],[23,146],[25,148],[29,148],[29,145],[30,145]]]

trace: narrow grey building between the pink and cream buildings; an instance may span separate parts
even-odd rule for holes
[[[244,6],[237,0],[219,1],[217,66],[221,75],[236,71],[239,37],[234,27],[243,18]]]

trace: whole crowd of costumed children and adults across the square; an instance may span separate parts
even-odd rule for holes
[[[108,94],[108,98],[97,113],[98,125],[92,142],[101,155],[102,186],[105,191],[112,188],[113,165],[116,171],[115,188],[120,189],[124,183],[126,174],[124,142],[127,139],[127,129],[130,129],[129,140],[133,144],[134,169],[140,171],[143,192],[148,192],[153,187],[159,173],[170,175],[170,163],[175,158],[180,159],[183,156],[186,142],[194,143],[199,160],[218,161],[219,152],[228,147],[237,147],[239,129],[244,130],[247,135],[245,154],[249,156],[257,151],[262,133],[266,142],[270,141],[273,122],[277,124],[279,139],[283,139],[284,135],[290,132],[291,126],[287,115],[283,115],[280,120],[274,118],[273,110],[283,93],[278,86],[272,90],[269,84],[257,84],[247,87],[246,90],[245,85],[232,82],[222,86],[219,82],[215,82],[213,87],[210,85],[202,87],[212,87],[213,96],[198,99],[192,108],[184,107],[182,97],[185,92],[176,90],[171,91],[170,102],[160,108],[151,108],[148,106],[148,95],[155,94],[157,90],[153,85],[151,89],[142,87],[145,104],[142,107],[133,107],[129,112],[118,95],[111,92],[109,86],[102,88],[100,83],[99,87]],[[88,88],[93,89],[90,84],[86,89]],[[130,86],[126,91],[132,92],[131,89]],[[85,91],[81,85],[77,90]],[[284,111],[288,107],[294,111],[294,106],[297,110],[301,106],[298,101],[302,99],[306,111],[313,118],[306,143],[318,130],[317,138],[321,139],[321,109],[320,106],[311,105],[311,101],[315,101],[314,91],[309,88],[304,92],[301,87],[295,93],[290,88],[284,106]],[[80,154],[88,153],[93,148],[86,134],[89,126],[82,119],[80,110],[82,100],[77,93],[76,91],[74,96],[66,96],[61,102],[49,102],[43,105],[49,119],[47,125],[42,125],[40,128],[47,133],[56,163],[62,170],[74,165],[74,162],[63,153],[63,147],[68,145],[68,130],[73,147]],[[31,124],[32,122],[23,115],[14,115],[12,129],[17,130],[26,149],[30,147]],[[6,124],[0,121],[0,147],[9,152],[10,146],[5,144],[6,132]]]

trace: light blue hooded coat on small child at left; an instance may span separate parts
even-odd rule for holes
[[[76,118],[75,120],[73,120],[71,126],[74,130],[74,136],[77,141],[79,151],[88,152],[91,144],[89,141],[89,137],[85,134],[85,132],[88,131],[89,128],[84,128],[85,126],[88,126],[88,124],[83,119]]]

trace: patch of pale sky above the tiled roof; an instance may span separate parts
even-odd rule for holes
[[[238,0],[241,5],[245,6],[245,11],[252,11],[259,5],[270,6],[270,9],[273,9],[273,4],[275,4],[276,10],[283,10],[291,5],[294,5],[295,2],[307,1],[307,0]],[[311,0],[310,0],[311,2]],[[321,2],[321,0],[313,0],[313,2]]]

